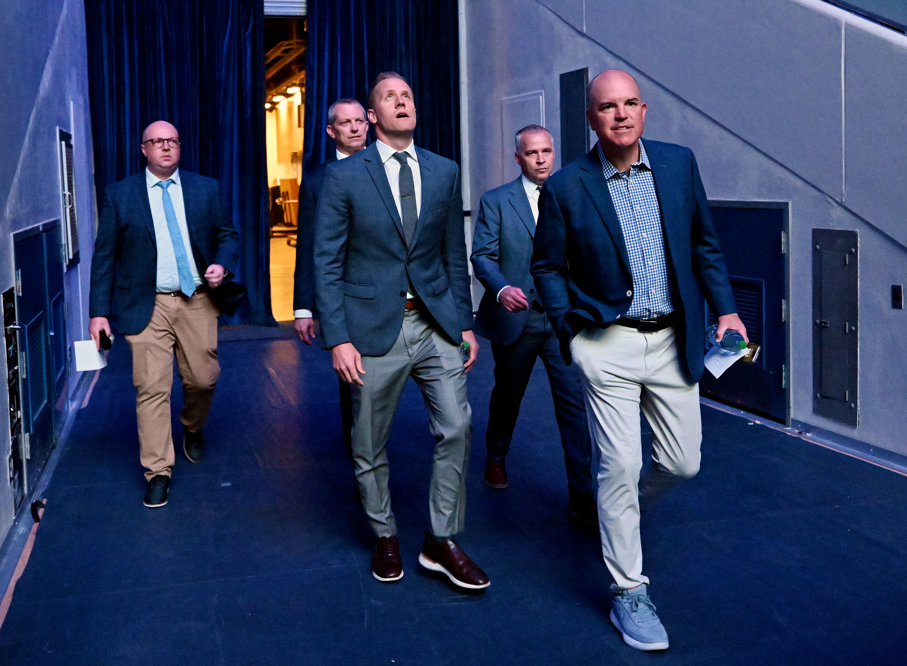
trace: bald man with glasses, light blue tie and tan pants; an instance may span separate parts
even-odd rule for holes
[[[89,333],[100,348],[110,319],[132,348],[146,507],[167,504],[174,464],[173,355],[182,379],[183,452],[204,453],[201,429],[219,377],[217,306],[209,290],[229,279],[239,236],[216,180],[180,171],[180,134],[151,123],[141,137],[148,168],[104,191],[92,258]]]

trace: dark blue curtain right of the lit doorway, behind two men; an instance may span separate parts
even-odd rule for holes
[[[305,169],[334,149],[327,107],[364,105],[379,72],[413,87],[415,144],[460,161],[460,58],[456,0],[308,0]],[[374,137],[374,134],[373,134]]]

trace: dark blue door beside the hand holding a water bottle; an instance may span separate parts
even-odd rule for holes
[[[699,390],[710,398],[786,422],[786,204],[710,203],[737,314],[750,342],[761,345],[762,351],[756,362],[738,361],[719,379],[706,371]],[[706,324],[715,323],[708,308],[706,313]]]

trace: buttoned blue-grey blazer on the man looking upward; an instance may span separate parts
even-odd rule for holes
[[[403,326],[407,275],[453,343],[473,328],[460,169],[428,150],[416,154],[422,204],[409,247],[374,143],[327,167],[315,230],[315,300],[326,348],[390,351]]]

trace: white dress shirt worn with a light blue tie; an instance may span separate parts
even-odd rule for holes
[[[182,202],[182,184],[180,183],[180,169],[173,172],[170,177],[173,181],[167,192],[173,202],[173,211],[176,213],[176,222],[180,227],[182,245],[186,248],[186,258],[189,259],[189,270],[192,282],[198,289],[201,285],[199,269],[192,256],[192,245],[189,241],[189,226],[186,224],[186,208]],[[176,265],[176,252],[173,250],[170,228],[167,227],[167,216],[164,214],[164,190],[158,183],[157,176],[145,169],[145,184],[148,186],[148,203],[151,204],[151,220],[154,222],[154,238],[158,246],[158,275],[157,291],[159,294],[180,291],[180,270]]]

